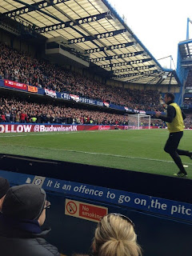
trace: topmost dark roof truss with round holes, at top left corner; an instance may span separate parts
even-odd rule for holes
[[[35,2],[31,5],[29,5],[26,2],[15,0],[15,2],[19,2],[19,3],[23,4],[24,6],[14,9],[14,10],[7,11],[6,13],[3,13],[1,16],[6,15],[10,18],[13,18],[15,16],[19,16],[22,14],[28,14],[34,10],[41,10],[42,8],[46,8],[48,6],[54,6],[54,5],[57,5],[58,3],[67,2],[67,1],[70,1],[70,0],[50,0],[49,2],[44,0],[44,1]],[[46,14],[46,12],[43,12],[43,13]]]

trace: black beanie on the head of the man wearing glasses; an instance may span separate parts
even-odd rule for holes
[[[46,202],[46,192],[32,184],[12,186],[2,203],[2,214],[11,218],[38,219]]]

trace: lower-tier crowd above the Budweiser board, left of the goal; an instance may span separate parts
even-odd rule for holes
[[[0,122],[126,124],[127,117],[94,110],[0,98]]]

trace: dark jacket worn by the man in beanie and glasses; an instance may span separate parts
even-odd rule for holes
[[[59,256],[58,249],[44,239],[49,231],[42,231],[38,221],[16,221],[0,214],[0,255]]]

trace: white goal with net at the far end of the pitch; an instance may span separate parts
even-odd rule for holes
[[[150,129],[150,115],[148,114],[128,114],[128,129]]]

